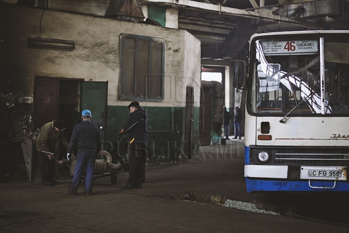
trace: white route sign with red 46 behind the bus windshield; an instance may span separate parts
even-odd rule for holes
[[[263,41],[262,48],[264,54],[274,55],[309,54],[318,51],[317,40]]]

